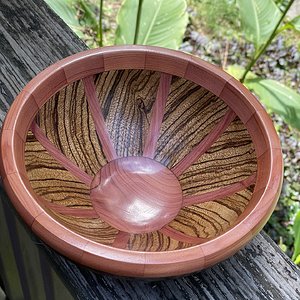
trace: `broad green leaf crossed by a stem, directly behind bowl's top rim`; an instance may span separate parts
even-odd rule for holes
[[[117,16],[115,44],[133,44],[138,0],[125,0]],[[185,0],[144,0],[137,44],[178,49],[187,26]]]

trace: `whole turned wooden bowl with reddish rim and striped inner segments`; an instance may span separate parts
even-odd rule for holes
[[[279,139],[257,99],[219,68],[158,47],[88,50],[41,72],[7,114],[1,158],[34,233],[128,277],[231,256],[282,184]]]

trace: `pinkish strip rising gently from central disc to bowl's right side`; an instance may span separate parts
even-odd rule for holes
[[[248,178],[233,183],[231,185],[225,186],[223,188],[220,188],[218,190],[204,193],[201,195],[193,195],[193,196],[187,196],[183,198],[183,204],[182,206],[188,206],[192,204],[199,204],[204,203],[212,200],[222,199],[226,196],[233,195],[239,191],[244,190],[245,188],[249,187],[250,185],[254,184],[256,181],[256,173],[252,174]]]

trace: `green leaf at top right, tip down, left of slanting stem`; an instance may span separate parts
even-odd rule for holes
[[[237,0],[237,3],[245,37],[257,50],[272,34],[281,12],[273,0]]]

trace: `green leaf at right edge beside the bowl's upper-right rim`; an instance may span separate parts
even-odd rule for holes
[[[271,79],[247,79],[245,85],[267,108],[279,115],[292,127],[300,129],[300,95],[287,86]]]

